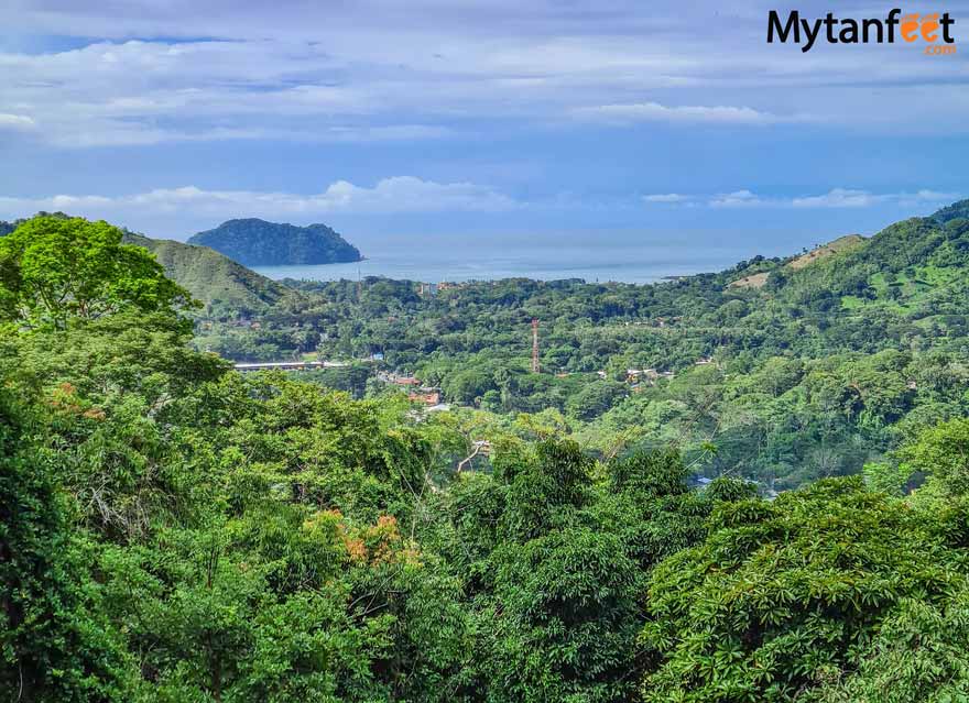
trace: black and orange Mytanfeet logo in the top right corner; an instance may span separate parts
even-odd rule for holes
[[[781,43],[793,41],[807,53],[819,40],[828,44],[894,44],[901,39],[907,44],[924,46],[925,54],[955,54],[955,24],[956,20],[948,12],[903,14],[899,8],[891,10],[884,19],[861,20],[837,18],[834,12],[808,20],[797,10],[792,10],[786,20],[782,20],[776,10],[771,10],[767,13],[767,44],[773,44],[775,39]]]

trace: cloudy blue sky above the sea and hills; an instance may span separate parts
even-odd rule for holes
[[[0,219],[775,251],[969,196],[969,2],[902,6],[948,11],[955,55],[767,44],[769,10],[832,6],[895,7],[6,0]]]

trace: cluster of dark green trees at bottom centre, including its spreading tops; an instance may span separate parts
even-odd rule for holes
[[[614,479],[568,441],[501,452],[494,475],[448,486],[429,540],[471,596],[472,700],[633,699],[645,576],[705,537],[719,497],[689,491],[672,451],[616,462]]]

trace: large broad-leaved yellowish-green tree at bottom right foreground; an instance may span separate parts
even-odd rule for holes
[[[646,701],[799,700],[852,671],[903,603],[939,603],[960,578],[919,516],[857,479],[723,505],[710,530],[654,572]]]

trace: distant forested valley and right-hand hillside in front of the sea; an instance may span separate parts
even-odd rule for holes
[[[602,455],[675,442],[708,477],[784,490],[858,473],[967,411],[967,267],[966,220],[914,218],[803,257],[646,286],[509,279],[432,294],[372,277],[287,281],[298,295],[255,319],[210,315],[196,344],[239,360],[379,352],[374,369],[414,374],[450,404],[508,422],[562,413]],[[763,287],[730,285],[763,273]]]

